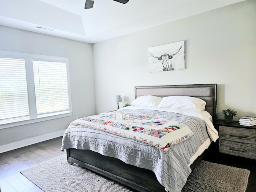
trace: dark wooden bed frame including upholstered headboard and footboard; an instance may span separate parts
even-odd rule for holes
[[[206,111],[212,115],[213,121],[217,119],[216,84],[135,87],[135,98],[142,95],[182,95],[201,98],[206,101]],[[70,148],[66,151],[69,164],[76,163],[139,192],[165,192],[164,187],[151,170],[126,164],[119,159],[103,156],[91,150]],[[190,166],[192,170],[206,156],[207,152],[208,150],[193,162]]]

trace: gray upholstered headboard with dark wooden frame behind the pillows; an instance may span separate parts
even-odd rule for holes
[[[135,98],[142,95],[154,96],[191,96],[206,102],[205,110],[217,120],[217,84],[199,85],[163,85],[163,86],[138,86],[135,87]]]

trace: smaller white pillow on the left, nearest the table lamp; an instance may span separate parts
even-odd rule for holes
[[[152,95],[143,95],[136,98],[131,106],[144,106],[144,107],[157,107],[160,104],[162,98]]]

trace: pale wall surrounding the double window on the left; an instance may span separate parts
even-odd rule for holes
[[[0,50],[69,58],[73,116],[0,129],[3,148],[61,136],[75,117],[95,114],[92,45],[0,26]],[[11,144],[11,145],[10,145]]]

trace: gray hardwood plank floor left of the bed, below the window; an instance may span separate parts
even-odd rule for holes
[[[1,192],[43,192],[22,174],[33,165],[66,154],[61,148],[62,137],[40,142],[0,154]]]

